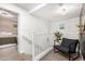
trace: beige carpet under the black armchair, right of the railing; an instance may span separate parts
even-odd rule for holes
[[[68,61],[68,56],[60,52],[54,53],[54,51],[52,50],[48,54],[46,54],[40,61]],[[75,61],[82,61],[82,57],[80,56]]]

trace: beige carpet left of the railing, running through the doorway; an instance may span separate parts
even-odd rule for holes
[[[0,61],[31,61],[31,55],[20,54],[16,47],[0,49]]]

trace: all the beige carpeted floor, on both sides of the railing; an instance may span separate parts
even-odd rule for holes
[[[0,49],[0,61],[32,61],[32,56],[26,55],[24,53],[20,54],[17,52],[16,47],[10,47],[10,48]],[[68,61],[68,56],[66,56],[60,52],[54,53],[54,51],[52,50],[40,61]],[[80,56],[75,61],[82,61],[82,57]]]

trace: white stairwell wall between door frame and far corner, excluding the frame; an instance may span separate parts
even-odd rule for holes
[[[29,18],[28,18],[29,17]],[[25,48],[25,52],[27,52],[27,51],[29,51],[30,52],[30,54],[32,53],[31,51],[32,51],[32,44],[31,44],[31,42],[32,42],[32,34],[47,34],[48,33],[48,26],[47,26],[47,22],[46,21],[44,21],[44,20],[39,20],[39,18],[36,18],[36,17],[33,17],[33,16],[27,16],[27,18],[28,18],[28,22],[23,22],[22,23],[22,36],[26,36],[28,39],[29,39],[29,44],[27,44],[27,42],[24,42],[24,43],[26,43],[26,46],[24,46],[23,43],[23,46],[24,46],[24,48]],[[22,39],[22,41],[24,41],[23,39]],[[28,47],[30,47],[30,48],[28,48]],[[28,49],[26,49],[26,48],[28,48]]]

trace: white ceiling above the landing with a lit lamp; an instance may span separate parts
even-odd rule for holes
[[[48,21],[61,21],[80,16],[81,4],[77,3],[17,3],[17,7],[25,9],[28,13]],[[60,9],[66,9],[60,12]]]

